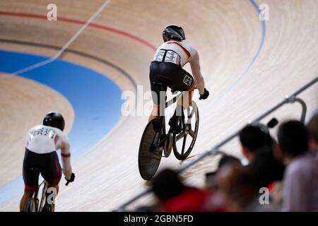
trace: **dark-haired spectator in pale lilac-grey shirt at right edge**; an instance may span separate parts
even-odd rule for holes
[[[288,165],[283,178],[284,211],[318,211],[318,157],[308,151],[308,132],[300,121],[287,121],[278,129],[278,148]]]

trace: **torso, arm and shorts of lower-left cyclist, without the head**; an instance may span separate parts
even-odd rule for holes
[[[27,133],[25,143],[25,161],[23,177],[25,186],[34,186],[37,175],[30,169],[41,169],[42,177],[50,184],[59,182],[61,179],[61,167],[57,150],[61,149],[62,165],[64,174],[71,173],[71,156],[69,150],[69,138],[58,128],[52,126],[34,126]]]

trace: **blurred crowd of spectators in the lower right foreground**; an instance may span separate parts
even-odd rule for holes
[[[151,181],[156,203],[136,211],[318,211],[318,113],[307,125],[285,121],[277,139],[261,125],[240,131],[242,165],[223,154],[204,187],[189,186],[171,169]]]

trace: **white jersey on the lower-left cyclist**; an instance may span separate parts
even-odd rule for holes
[[[61,149],[63,169],[71,169],[69,138],[55,127],[38,125],[31,128],[25,139],[25,148],[37,154]]]

